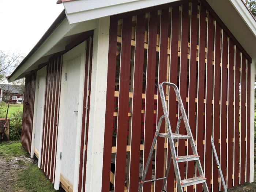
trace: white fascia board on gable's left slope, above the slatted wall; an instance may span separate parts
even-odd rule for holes
[[[63,2],[70,24],[87,20],[139,10],[156,5],[172,3],[178,0],[77,0]],[[95,3],[97,2],[97,4]]]

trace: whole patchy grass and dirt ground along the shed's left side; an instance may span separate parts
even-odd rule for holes
[[[19,141],[0,143],[0,192],[56,192]]]

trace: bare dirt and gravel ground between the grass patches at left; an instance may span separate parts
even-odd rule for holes
[[[17,191],[14,187],[20,170],[27,168],[25,163],[37,164],[38,161],[24,155],[10,160],[0,158],[0,192],[26,192],[22,189]]]

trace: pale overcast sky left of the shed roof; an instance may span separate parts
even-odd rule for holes
[[[56,2],[0,0],[0,50],[16,50],[26,56],[64,9]]]

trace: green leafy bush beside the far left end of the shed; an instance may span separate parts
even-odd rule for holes
[[[16,110],[10,115],[10,140],[19,140],[22,129],[22,110]]]

